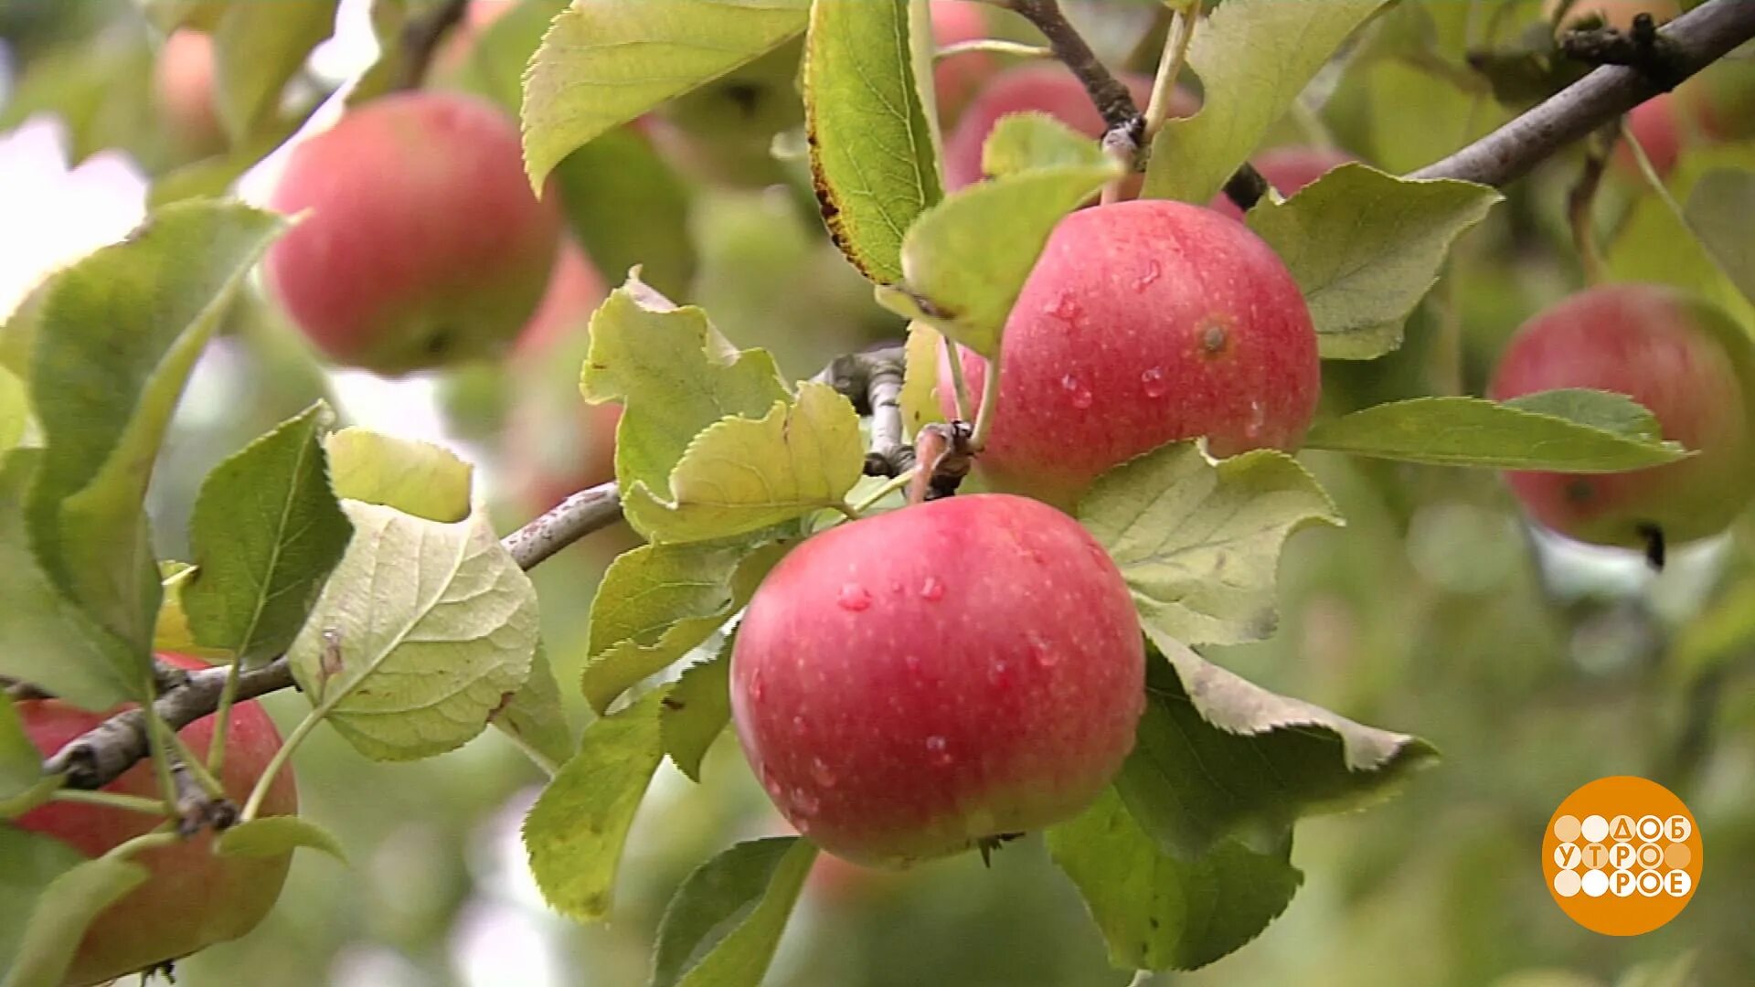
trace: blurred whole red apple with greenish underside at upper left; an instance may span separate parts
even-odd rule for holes
[[[397,93],[300,144],[274,191],[309,209],[269,283],[332,360],[404,374],[497,357],[548,285],[553,197],[525,179],[518,125],[458,93]]]

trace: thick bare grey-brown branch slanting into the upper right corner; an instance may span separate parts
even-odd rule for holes
[[[1669,46],[1674,77],[1653,79],[1639,68],[1604,65],[1499,130],[1408,177],[1508,184],[1560,148],[1674,88],[1755,37],[1755,4],[1708,0],[1658,28],[1658,37]]]

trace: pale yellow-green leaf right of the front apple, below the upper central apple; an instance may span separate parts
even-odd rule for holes
[[[1292,457],[1257,450],[1213,462],[1197,443],[1102,474],[1079,520],[1121,569],[1146,632],[1190,645],[1269,638],[1286,537],[1343,523]]]

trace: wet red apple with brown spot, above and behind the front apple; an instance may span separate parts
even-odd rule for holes
[[[1322,388],[1316,330],[1279,256],[1243,223],[1162,198],[1062,220],[1000,355],[999,413],[976,469],[1064,508],[1165,443],[1206,436],[1220,457],[1297,448]],[[978,406],[985,372],[963,351]],[[948,372],[939,400],[949,414]]]

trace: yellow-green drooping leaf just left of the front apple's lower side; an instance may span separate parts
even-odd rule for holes
[[[663,760],[656,688],[584,729],[579,753],[525,817],[525,852],[542,897],[581,922],[609,915],[634,813]]]

